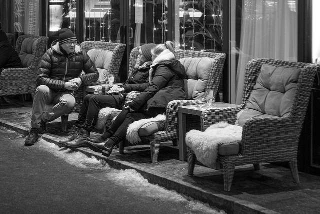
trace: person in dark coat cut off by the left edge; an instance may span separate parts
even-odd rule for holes
[[[18,53],[8,41],[6,33],[2,31],[0,23],[0,74],[6,68],[23,68]]]

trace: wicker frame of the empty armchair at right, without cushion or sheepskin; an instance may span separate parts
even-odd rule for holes
[[[250,163],[258,170],[259,163],[288,161],[293,181],[296,183],[299,182],[297,148],[316,72],[315,64],[286,62],[274,59],[251,60],[246,67],[242,104],[240,107],[206,109],[201,115],[201,126],[203,130],[205,130],[211,124],[220,121],[234,124],[237,113],[243,109],[248,102],[263,63],[301,69],[292,108],[287,117],[253,117],[245,122],[242,128],[242,139],[241,142],[239,142],[239,153],[235,155],[218,156],[218,161],[223,165],[225,191],[230,191],[235,165]],[[187,147],[187,174],[189,176],[193,175],[195,158],[193,151]]]

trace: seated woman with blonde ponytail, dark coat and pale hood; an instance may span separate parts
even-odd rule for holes
[[[172,42],[157,45],[151,53],[149,81],[139,85],[144,90],[125,104],[112,125],[103,132],[103,137],[87,137],[86,144],[93,151],[109,156],[113,146],[125,139],[127,127],[132,122],[165,114],[170,101],[186,98],[183,79],[187,77],[183,65],[176,60]]]

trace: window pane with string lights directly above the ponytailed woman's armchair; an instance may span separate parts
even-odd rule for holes
[[[222,0],[175,3],[174,40],[184,50],[222,51]]]

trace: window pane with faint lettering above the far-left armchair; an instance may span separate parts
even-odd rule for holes
[[[39,0],[14,0],[13,32],[15,35],[39,35]]]

